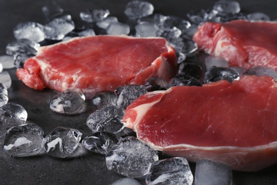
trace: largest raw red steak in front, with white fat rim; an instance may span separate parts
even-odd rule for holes
[[[165,154],[256,171],[277,162],[276,110],[273,78],[244,76],[232,84],[220,80],[146,93],[123,119],[141,141]]]

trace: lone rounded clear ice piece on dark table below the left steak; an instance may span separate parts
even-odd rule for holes
[[[58,93],[50,101],[50,109],[67,115],[75,115],[85,111],[85,95],[75,91]]]

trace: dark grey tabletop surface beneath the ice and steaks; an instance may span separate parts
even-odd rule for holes
[[[0,55],[5,54],[6,44],[14,41],[13,27],[17,23],[35,21],[46,23],[41,8],[46,1],[34,0],[1,0],[0,1]],[[111,16],[117,16],[119,21],[126,21],[124,9],[126,0],[57,0],[65,12],[72,15],[77,26],[82,26],[79,14],[86,9],[109,9]],[[203,0],[152,0],[150,1],[156,13],[174,15],[186,18],[192,10],[211,9],[215,1]],[[264,12],[277,18],[275,0],[241,0],[241,11],[244,13]],[[63,116],[50,111],[48,101],[55,95],[52,90],[36,91],[27,88],[17,80],[15,69],[8,70],[12,76],[12,86],[9,88],[9,102],[23,105],[28,112],[28,120],[43,128],[45,134],[55,127],[72,127],[88,134],[85,121],[91,110],[75,116]],[[277,134],[277,133],[276,133]],[[259,138],[257,138],[259,139]],[[3,142],[3,138],[0,138]],[[192,164],[192,171],[194,164]],[[256,172],[234,171],[234,184],[277,184],[277,165]],[[104,156],[85,152],[71,159],[55,159],[46,154],[36,157],[11,158],[0,149],[0,184],[110,184],[123,176],[107,170]],[[145,184],[140,180],[141,184]]]

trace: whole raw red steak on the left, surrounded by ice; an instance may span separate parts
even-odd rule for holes
[[[175,51],[164,38],[89,36],[41,47],[16,75],[36,90],[75,90],[92,98],[151,77],[170,80],[176,73]]]

